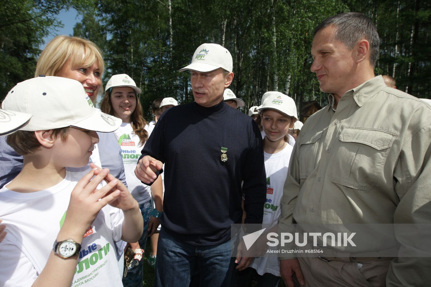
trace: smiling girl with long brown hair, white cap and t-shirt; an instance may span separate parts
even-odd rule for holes
[[[106,84],[105,95],[101,103],[102,111],[122,119],[122,125],[115,131],[121,146],[128,189],[139,203],[144,219],[144,232],[137,243],[131,243],[132,250],[145,248],[147,237],[159,226],[159,213],[162,212],[162,179],[159,177],[151,187],[139,181],[134,169],[141,150],[149,137],[148,125],[142,116],[142,106],[138,88],[126,74],[113,75]],[[156,209],[151,203],[153,197]],[[126,268],[126,267],[125,267]],[[143,263],[128,270],[123,278],[124,286],[142,285]]]

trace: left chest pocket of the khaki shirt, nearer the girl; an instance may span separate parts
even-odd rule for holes
[[[299,176],[306,179],[318,164],[317,150],[323,131],[309,131],[300,141]]]

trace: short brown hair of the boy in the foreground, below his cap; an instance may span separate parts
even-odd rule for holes
[[[61,137],[62,141],[66,141],[68,133],[69,127],[53,129],[53,136],[55,138]],[[34,131],[16,131],[6,137],[6,143],[22,156],[34,153],[41,147],[41,143],[37,140]]]

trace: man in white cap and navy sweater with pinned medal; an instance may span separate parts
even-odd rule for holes
[[[262,137],[253,119],[223,102],[234,77],[228,50],[202,44],[185,70],[195,102],[160,117],[135,169],[151,184],[165,163],[155,286],[188,286],[196,273],[200,286],[229,286],[234,262],[242,270],[253,260],[231,257],[231,224],[241,223],[243,193],[245,223],[262,223]]]

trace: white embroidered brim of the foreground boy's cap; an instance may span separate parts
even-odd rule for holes
[[[116,131],[123,122],[121,119],[116,118],[113,115],[105,114],[104,112],[100,112],[98,109],[94,110],[95,112],[87,119],[83,119],[71,126],[84,128],[90,131],[109,133],[111,131]]]

